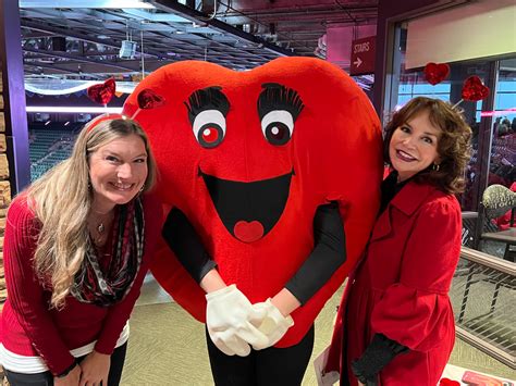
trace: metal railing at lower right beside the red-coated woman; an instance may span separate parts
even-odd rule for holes
[[[516,369],[516,264],[463,247],[450,298],[457,336]]]

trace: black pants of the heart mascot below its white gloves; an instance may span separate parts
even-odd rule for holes
[[[314,326],[297,345],[226,356],[206,332],[211,373],[217,386],[299,386],[314,349]]]

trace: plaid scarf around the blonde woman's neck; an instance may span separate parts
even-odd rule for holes
[[[133,287],[144,256],[145,221],[140,198],[120,208],[114,222],[115,240],[106,270],[90,242],[83,266],[74,278],[72,296],[81,302],[109,307],[122,300]]]

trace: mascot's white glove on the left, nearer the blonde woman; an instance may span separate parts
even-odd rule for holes
[[[253,347],[266,348],[269,339],[258,331],[267,311],[253,307],[234,284],[206,294],[206,326],[213,344],[226,356],[246,357]]]

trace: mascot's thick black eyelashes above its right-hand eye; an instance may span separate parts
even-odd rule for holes
[[[263,84],[263,90],[258,97],[258,114],[260,120],[273,110],[286,110],[294,121],[303,111],[305,104],[296,90],[277,83]]]

